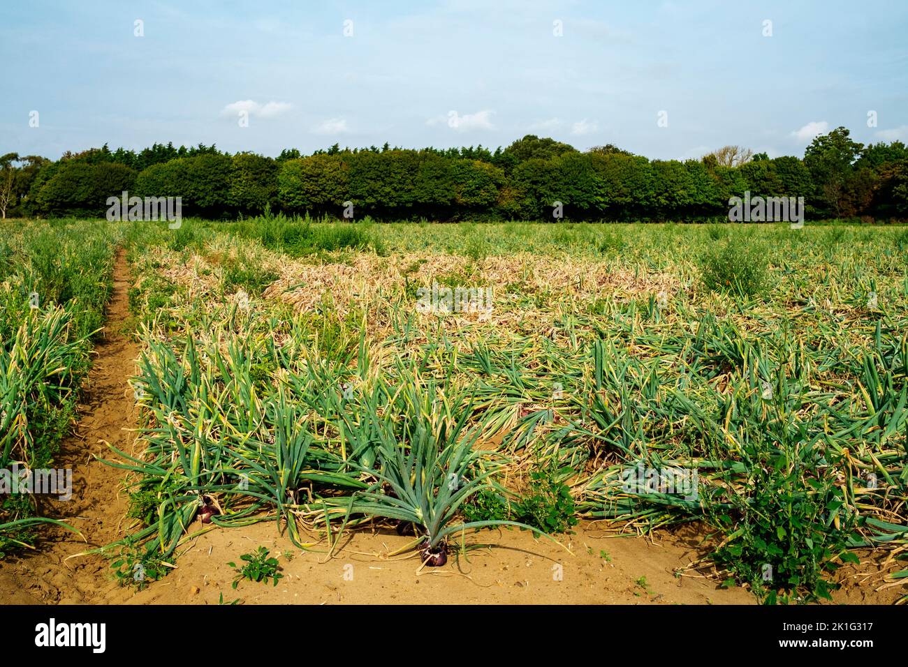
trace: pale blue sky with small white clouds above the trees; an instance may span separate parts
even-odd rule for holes
[[[904,0],[0,0],[0,154],[908,142],[906,34]]]

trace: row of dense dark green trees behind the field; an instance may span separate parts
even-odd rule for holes
[[[844,127],[817,136],[803,158],[725,146],[699,160],[648,160],[612,144],[586,152],[527,135],[482,146],[420,150],[370,146],[271,158],[214,145],[106,145],[60,160],[0,157],[0,215],[102,216],[107,198],[182,197],[212,219],[271,211],[379,220],[697,221],[725,217],[728,200],[804,197],[810,217],[908,218],[908,148],[866,146]],[[350,202],[352,207],[350,207]]]

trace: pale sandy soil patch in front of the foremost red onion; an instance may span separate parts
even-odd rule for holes
[[[200,526],[201,527],[201,526]],[[327,544],[302,552],[277,535],[273,523],[202,535],[166,580],[135,593],[131,603],[754,603],[741,588],[717,590],[716,581],[676,577],[689,549],[614,538],[594,525],[562,538],[564,546],[518,530],[469,535],[466,554],[443,567],[420,567],[419,558],[384,554],[410,542],[393,531],[343,535],[329,557]],[[481,544],[489,544],[482,546]],[[227,564],[263,545],[281,564],[277,586],[243,581],[231,588]],[[316,551],[318,550],[318,551]],[[605,552],[603,557],[600,552]]]

